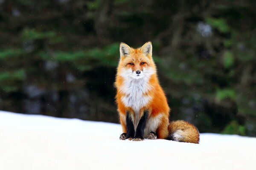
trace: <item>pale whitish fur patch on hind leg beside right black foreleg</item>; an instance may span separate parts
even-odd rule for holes
[[[161,122],[161,118],[162,118],[163,114],[158,114],[157,116],[150,117],[148,119],[148,122],[146,123],[146,127],[144,129],[144,138],[147,137],[148,133],[150,132],[157,132],[157,128]]]

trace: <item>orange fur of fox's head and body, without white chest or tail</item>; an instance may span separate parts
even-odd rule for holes
[[[157,78],[156,65],[152,58],[152,53],[150,53],[149,51],[150,45],[151,45],[151,42],[146,42],[141,48],[131,48],[124,43],[120,44],[120,60],[119,60],[119,65],[117,67],[116,82],[115,82],[115,86],[117,89],[116,103],[118,107],[119,119],[122,125],[122,130],[123,130],[123,133],[126,133],[127,132],[126,122],[125,122],[126,111],[132,111],[134,116],[136,114],[133,108],[126,106],[122,100],[123,97],[129,95],[125,91],[122,91],[122,87],[124,86],[124,83],[125,83],[125,78],[124,76],[122,76],[122,71],[123,71],[122,69],[131,70],[133,72],[137,70],[146,71],[149,68],[154,70],[154,72],[148,78],[148,85],[151,88],[150,90],[145,91],[143,93],[143,97],[150,97],[150,100],[147,102],[146,105],[143,105],[140,108],[140,117],[142,116],[143,110],[145,109],[149,111],[148,119],[150,118],[154,119],[156,116],[161,114],[160,115],[161,117],[159,119],[160,123],[156,130],[156,133],[159,139],[166,139],[169,136],[169,130],[172,129],[172,126],[171,125],[169,126],[170,108],[168,106],[165,93],[161,88]],[[149,51],[149,53],[145,53],[145,51],[146,52]],[[129,63],[133,63],[133,65]]]

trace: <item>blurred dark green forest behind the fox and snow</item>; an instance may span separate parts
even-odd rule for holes
[[[151,40],[170,119],[256,136],[253,0],[0,0],[0,110],[118,122],[119,43]]]

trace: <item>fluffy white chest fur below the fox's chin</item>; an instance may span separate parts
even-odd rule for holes
[[[148,104],[151,96],[145,95],[145,92],[151,89],[148,79],[125,79],[121,91],[125,94],[122,102],[126,107],[131,107],[135,115],[138,115],[140,108]]]

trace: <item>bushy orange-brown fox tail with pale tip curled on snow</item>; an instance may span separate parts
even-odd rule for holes
[[[170,122],[168,126],[168,140],[177,142],[199,143],[199,131],[189,122],[177,120]]]

